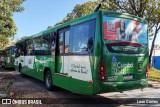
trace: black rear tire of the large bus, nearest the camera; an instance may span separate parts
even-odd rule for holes
[[[51,71],[47,71],[45,73],[45,86],[47,90],[52,91],[54,90],[53,82],[52,82],[52,74]]]

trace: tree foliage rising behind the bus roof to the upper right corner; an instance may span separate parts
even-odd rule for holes
[[[159,0],[95,0],[77,4],[71,13],[56,25],[68,22],[81,16],[90,14],[98,3],[102,4],[101,9],[126,12],[144,18],[149,22],[149,36],[154,35],[153,27],[160,22],[160,1]]]

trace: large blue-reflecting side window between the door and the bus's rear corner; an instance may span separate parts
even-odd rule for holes
[[[70,53],[90,54],[93,52],[95,20],[74,25],[70,29]]]

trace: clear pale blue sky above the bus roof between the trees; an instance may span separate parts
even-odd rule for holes
[[[87,0],[26,0],[22,6],[25,10],[14,13],[14,20],[18,28],[15,39],[31,36],[54,26],[60,22],[67,13],[71,12],[76,4]]]

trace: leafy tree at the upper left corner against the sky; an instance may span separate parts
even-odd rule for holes
[[[0,1],[0,48],[9,43],[9,38],[14,37],[17,27],[13,20],[14,12],[22,12],[21,4],[25,0],[1,0]]]

